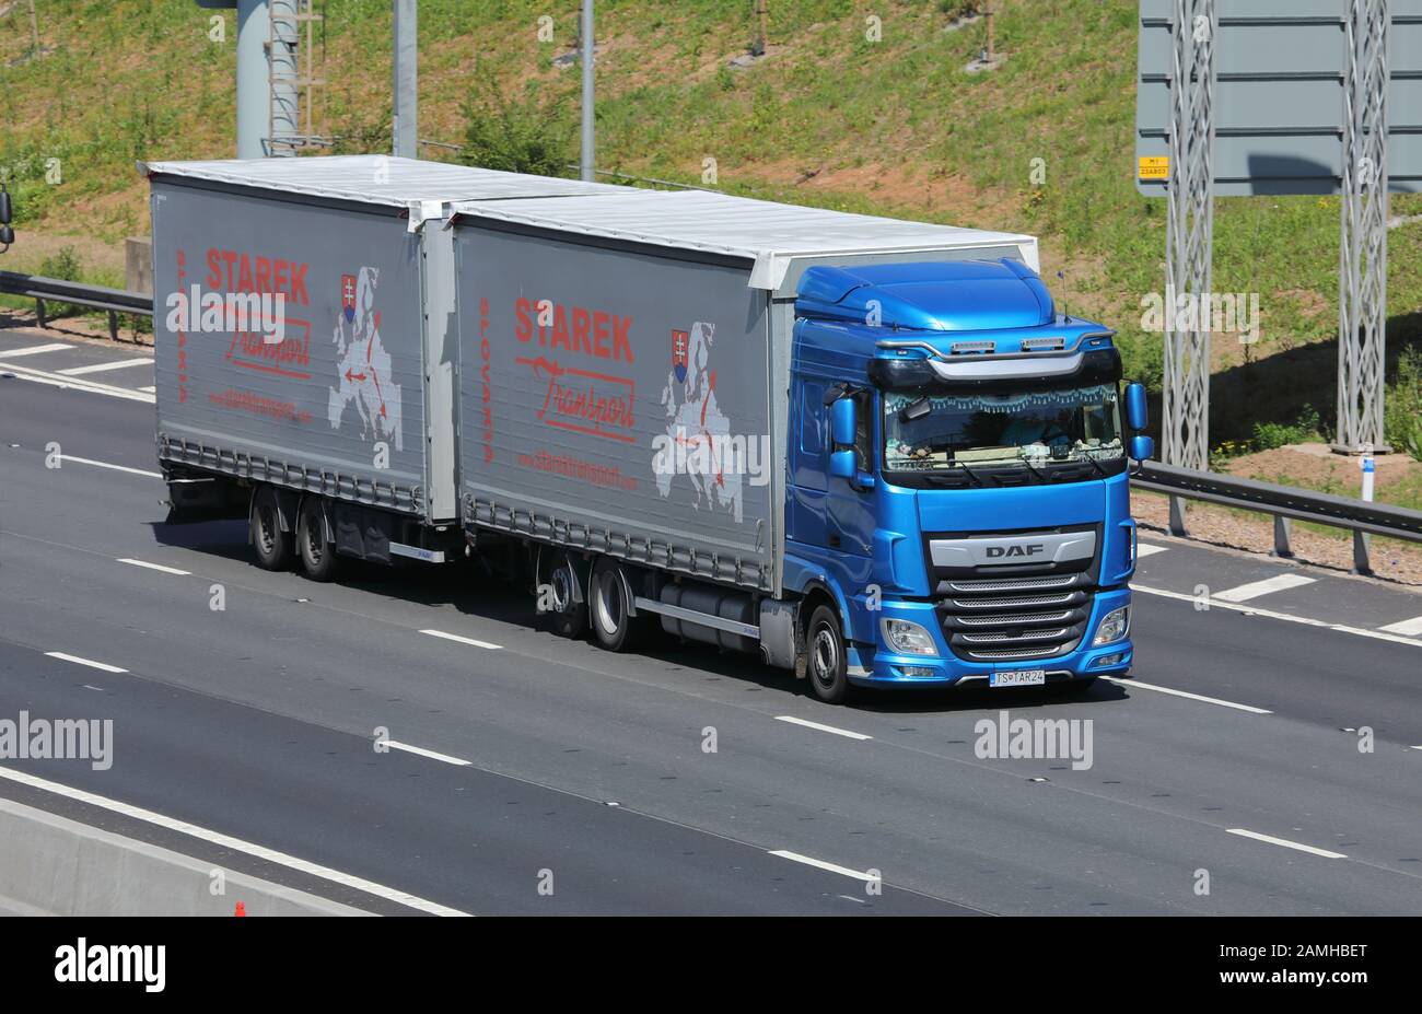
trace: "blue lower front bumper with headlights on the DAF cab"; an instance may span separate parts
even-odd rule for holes
[[[1032,661],[974,663],[957,657],[948,649],[933,603],[884,600],[882,617],[909,620],[923,626],[933,633],[939,654],[896,654],[879,634],[873,649],[857,646],[856,650],[850,651],[849,681],[862,687],[985,687],[993,673],[1038,668],[1047,670],[1048,684],[1086,680],[1096,676],[1123,676],[1130,668],[1135,654],[1130,631],[1126,631],[1126,637],[1099,647],[1092,647],[1091,641],[1106,613],[1129,604],[1129,589],[1099,592],[1092,603],[1086,634],[1076,649],[1065,654]],[[877,633],[879,624],[875,626]]]

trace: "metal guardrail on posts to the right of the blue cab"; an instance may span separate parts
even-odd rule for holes
[[[1217,472],[1197,472],[1193,468],[1177,468],[1145,462],[1130,476],[1130,485],[1170,495],[1170,533],[1185,536],[1185,512],[1179,499],[1223,503],[1244,511],[1258,511],[1274,515],[1274,555],[1293,557],[1288,545],[1290,521],[1310,521],[1317,525],[1345,528],[1352,532],[1352,569],[1359,575],[1371,575],[1368,560],[1368,536],[1384,535],[1389,539],[1422,542],[1422,511],[1369,503],[1313,489],[1280,486],[1273,482],[1240,479]]]

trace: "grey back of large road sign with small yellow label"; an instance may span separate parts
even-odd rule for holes
[[[1140,0],[1136,188],[1170,176],[1172,0]],[[1347,0],[1217,0],[1214,196],[1340,193]],[[1422,192],[1422,0],[1391,0],[1388,176]],[[1285,13],[1287,11],[1287,13]],[[1381,174],[1378,174],[1381,176]]]

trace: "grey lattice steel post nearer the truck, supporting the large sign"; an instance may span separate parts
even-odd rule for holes
[[[1214,0],[1175,0],[1162,457],[1166,464],[1196,469],[1204,469],[1210,458],[1210,319],[1177,310],[1182,301],[1199,307],[1210,292],[1217,30]],[[1170,498],[1172,529],[1183,532],[1183,509]]]

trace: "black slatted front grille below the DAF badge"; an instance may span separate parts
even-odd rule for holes
[[[1007,663],[1074,650],[1086,634],[1099,556],[1098,540],[1089,559],[1015,566],[1000,576],[983,566],[934,567],[937,614],[953,653]]]

